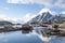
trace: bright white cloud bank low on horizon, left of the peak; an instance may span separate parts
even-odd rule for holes
[[[17,18],[17,17],[10,17],[6,14],[0,14],[0,20],[9,20],[13,23],[26,23],[30,20],[32,17],[35,17],[34,14],[27,13],[24,17]]]

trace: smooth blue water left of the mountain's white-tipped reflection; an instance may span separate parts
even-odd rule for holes
[[[37,34],[23,34],[22,31],[0,33],[0,43],[42,43]]]

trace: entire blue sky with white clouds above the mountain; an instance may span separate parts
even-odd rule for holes
[[[65,0],[0,0],[0,19],[29,20],[42,9],[65,13]]]

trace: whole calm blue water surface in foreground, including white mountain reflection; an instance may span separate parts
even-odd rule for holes
[[[65,43],[65,38],[47,37],[41,30],[35,29],[29,33],[25,31],[2,32],[0,43]]]

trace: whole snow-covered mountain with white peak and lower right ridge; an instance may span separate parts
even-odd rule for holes
[[[50,10],[43,9],[39,12],[39,14],[30,19],[28,23],[48,23],[48,22],[62,22],[65,19],[65,14],[55,14],[51,12]]]

